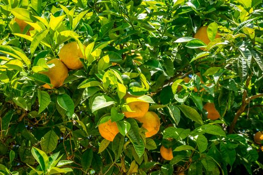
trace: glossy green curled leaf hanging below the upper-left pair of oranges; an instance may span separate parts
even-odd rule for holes
[[[57,102],[62,108],[66,110],[67,116],[71,117],[73,115],[75,106],[73,100],[68,94],[60,94],[57,97]]]

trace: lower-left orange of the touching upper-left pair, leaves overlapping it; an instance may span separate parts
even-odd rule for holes
[[[47,64],[55,64],[55,66],[49,68],[48,71],[42,71],[40,73],[47,75],[50,78],[52,87],[49,84],[44,84],[45,88],[56,88],[63,84],[64,80],[68,77],[68,68],[60,59],[52,59]]]

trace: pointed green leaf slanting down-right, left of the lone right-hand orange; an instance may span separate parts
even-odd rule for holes
[[[191,120],[199,124],[203,123],[202,117],[194,108],[183,104],[177,105],[177,107],[180,108],[180,110],[184,113],[186,117],[190,118]]]

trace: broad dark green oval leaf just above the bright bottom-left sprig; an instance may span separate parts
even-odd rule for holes
[[[52,152],[58,144],[58,136],[53,130],[48,131],[44,137],[41,138],[41,148],[46,153]]]

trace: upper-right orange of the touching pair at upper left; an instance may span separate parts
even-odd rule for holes
[[[85,47],[84,47],[85,48]],[[70,69],[79,69],[83,67],[80,58],[84,58],[80,47],[76,41],[65,44],[59,52],[59,57]]]

